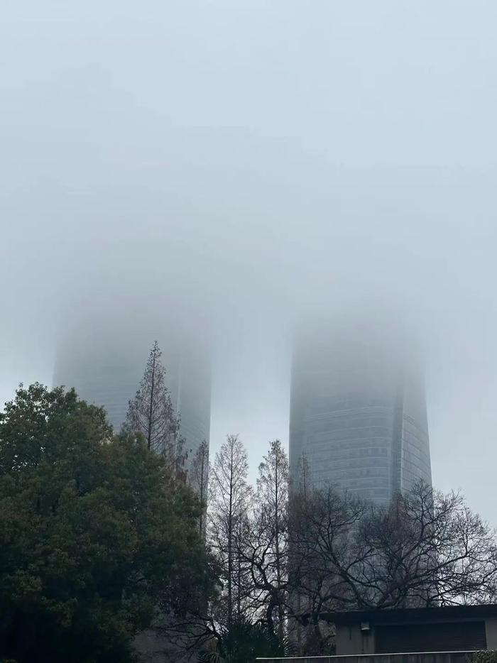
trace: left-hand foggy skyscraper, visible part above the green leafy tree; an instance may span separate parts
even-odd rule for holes
[[[185,329],[178,319],[174,322],[174,328],[167,321],[151,326],[139,317],[126,319],[115,313],[73,317],[61,334],[53,383],[75,387],[81,398],[102,405],[119,431],[157,339],[191,459],[204,439],[209,442],[211,355],[207,335]]]

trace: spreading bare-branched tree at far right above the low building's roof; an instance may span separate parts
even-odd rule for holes
[[[488,603],[497,596],[495,532],[471,512],[459,493],[444,495],[419,484],[374,510],[360,532],[366,605]]]

